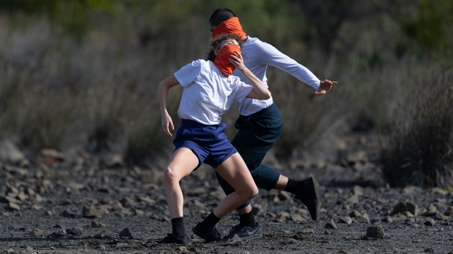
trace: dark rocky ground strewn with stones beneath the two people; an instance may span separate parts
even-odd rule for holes
[[[223,193],[212,169],[202,167],[181,186],[190,246],[159,244],[171,231],[161,167],[122,167],[83,153],[68,163],[43,150],[28,162],[3,151],[0,164],[1,253],[453,253],[453,193],[413,186],[389,188],[374,164],[372,136],[344,138],[336,160],[266,163],[287,176],[314,176],[323,209],[317,222],[292,195],[260,191],[253,200],[260,239],[204,243],[192,227]],[[3,145],[4,150],[8,145]],[[337,149],[338,148],[338,149]],[[11,150],[10,150],[11,151]],[[8,158],[9,157],[9,158]],[[7,162],[7,161],[14,161]],[[106,163],[109,162],[109,163]],[[238,222],[219,222],[226,233]]]

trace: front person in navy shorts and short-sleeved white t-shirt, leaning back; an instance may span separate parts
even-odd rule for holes
[[[215,228],[219,219],[243,202],[255,197],[258,188],[243,159],[224,133],[221,115],[234,102],[245,98],[269,99],[270,92],[263,82],[243,65],[239,37],[222,35],[214,38],[208,60],[188,63],[158,86],[162,130],[172,137],[173,120],[167,111],[171,87],[180,84],[183,94],[178,109],[181,126],[173,140],[175,150],[164,171],[165,193],[173,231],[162,243],[190,244],[183,222],[183,192],[179,182],[202,162],[213,167],[234,191],[219,203],[211,214],[193,228],[193,233],[206,241],[222,238]],[[248,80],[243,83],[231,75],[236,68]]]

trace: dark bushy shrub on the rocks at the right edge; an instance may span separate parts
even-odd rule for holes
[[[391,186],[452,186],[452,70],[406,81],[408,96],[382,147],[384,176]]]

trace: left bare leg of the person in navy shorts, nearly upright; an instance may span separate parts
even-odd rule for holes
[[[164,171],[165,195],[170,217],[183,217],[184,196],[179,181],[188,176],[198,165],[198,158],[188,148],[173,153]]]

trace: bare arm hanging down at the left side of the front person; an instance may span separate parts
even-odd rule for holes
[[[162,80],[157,86],[157,96],[159,97],[159,106],[161,107],[162,131],[170,137],[173,136],[171,135],[170,128],[171,131],[173,131],[175,126],[167,111],[168,90],[178,84],[179,81],[175,78],[175,75],[170,75],[168,78]]]

